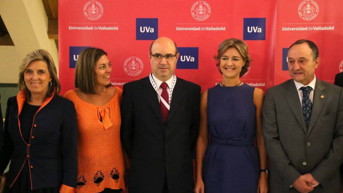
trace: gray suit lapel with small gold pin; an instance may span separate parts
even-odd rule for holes
[[[321,82],[321,80],[317,79],[315,90],[313,93],[312,113],[311,113],[310,124],[308,125],[307,135],[310,133],[313,126],[315,125],[317,118],[324,106],[324,103],[326,99],[328,98],[328,94],[324,90],[325,90],[325,87],[323,83]]]

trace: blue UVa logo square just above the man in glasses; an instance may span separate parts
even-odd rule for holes
[[[136,40],[155,40],[157,37],[157,18],[136,18]]]

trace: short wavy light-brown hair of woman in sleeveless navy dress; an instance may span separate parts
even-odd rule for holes
[[[216,66],[217,67],[220,66],[220,58],[223,56],[225,51],[229,49],[230,47],[236,48],[239,54],[242,56],[243,61],[245,62],[244,66],[242,67],[239,73],[239,77],[242,77],[250,68],[251,58],[248,52],[247,44],[241,39],[237,39],[237,38],[225,39],[222,43],[219,44],[218,55],[214,56],[214,59],[218,60],[218,62],[216,63]],[[218,69],[219,69],[219,72],[222,74],[223,72],[220,70],[220,68]]]

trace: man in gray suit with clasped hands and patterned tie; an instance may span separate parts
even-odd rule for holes
[[[298,40],[287,57],[292,79],[267,90],[262,111],[269,192],[339,193],[343,89],[316,78],[315,43]]]

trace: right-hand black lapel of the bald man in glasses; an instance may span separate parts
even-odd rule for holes
[[[184,82],[181,79],[177,79],[173,91],[173,95],[171,95],[171,102],[170,102],[170,109],[168,113],[167,122],[171,119],[171,117],[175,114],[175,112],[179,109],[182,99],[184,98],[186,91],[184,89]],[[161,115],[162,117],[162,115]]]

